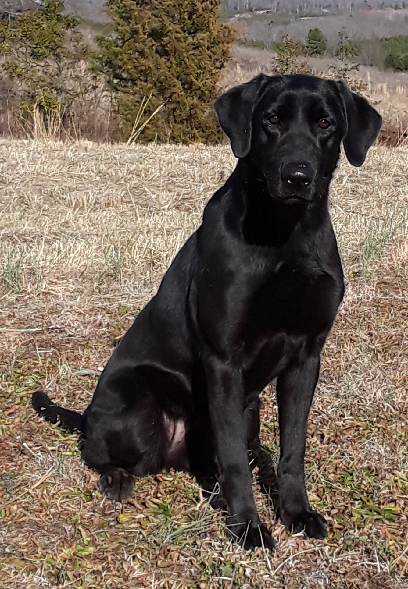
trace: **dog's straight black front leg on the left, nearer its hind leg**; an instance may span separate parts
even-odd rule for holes
[[[274,541],[259,519],[252,494],[241,371],[211,356],[206,362],[206,375],[220,483],[228,505],[228,528],[246,550],[256,546],[273,548]]]

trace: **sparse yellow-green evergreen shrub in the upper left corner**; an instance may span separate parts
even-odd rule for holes
[[[71,107],[84,97],[85,60],[90,59],[75,29],[80,20],[62,11],[60,0],[44,0],[37,11],[0,21],[0,77],[12,89],[2,108],[23,127],[44,133],[52,127],[58,135],[72,120]]]

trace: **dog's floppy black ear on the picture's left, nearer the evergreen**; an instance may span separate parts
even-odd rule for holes
[[[251,149],[252,111],[262,85],[269,79],[270,76],[259,74],[250,82],[227,90],[215,101],[218,122],[231,140],[235,157],[245,157]]]

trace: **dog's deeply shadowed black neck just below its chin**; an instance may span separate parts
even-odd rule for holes
[[[328,182],[327,187],[316,187],[309,203],[285,204],[271,196],[261,171],[254,171],[245,159],[238,161],[233,176],[241,187],[244,205],[237,229],[249,244],[281,247],[291,239],[298,226],[304,226],[305,230],[314,229],[323,217],[327,217]],[[311,224],[314,227],[309,227]]]

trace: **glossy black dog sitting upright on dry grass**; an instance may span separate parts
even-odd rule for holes
[[[341,141],[361,166],[381,117],[343,82],[306,75],[258,75],[215,109],[238,164],[114,350],[90,405],[81,415],[43,392],[32,403],[81,431],[82,458],[111,499],[129,497],[133,475],[170,466],[218,477],[229,530],[245,548],[272,548],[248,454],[287,528],[326,535],[307,499],[304,453],[320,352],[344,293],[328,186]],[[273,488],[258,436],[259,393],[275,377]]]

